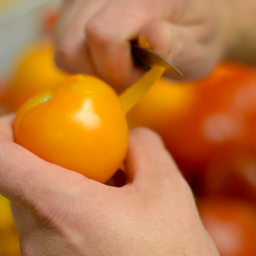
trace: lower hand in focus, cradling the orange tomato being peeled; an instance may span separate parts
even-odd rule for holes
[[[118,188],[15,144],[12,122],[0,119],[0,193],[12,202],[23,256],[219,255],[154,132],[130,131],[130,183]]]

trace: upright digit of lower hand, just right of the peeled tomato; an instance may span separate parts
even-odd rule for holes
[[[144,188],[176,186],[183,180],[160,136],[146,128],[130,131],[126,172],[132,184]]]

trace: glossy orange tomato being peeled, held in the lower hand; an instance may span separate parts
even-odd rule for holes
[[[74,75],[18,111],[15,142],[46,161],[106,182],[124,160],[128,125],[116,93],[102,80]]]

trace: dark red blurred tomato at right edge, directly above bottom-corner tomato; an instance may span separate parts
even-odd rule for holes
[[[236,197],[256,202],[256,155],[247,148],[220,150],[201,177],[202,195]]]

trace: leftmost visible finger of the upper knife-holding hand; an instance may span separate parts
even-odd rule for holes
[[[95,74],[86,46],[85,26],[107,0],[66,0],[55,33],[56,63],[69,72]]]

